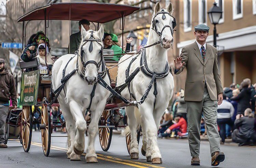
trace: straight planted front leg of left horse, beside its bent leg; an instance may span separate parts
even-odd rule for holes
[[[95,152],[95,137],[98,133],[98,123],[104,107],[104,101],[100,101],[95,111],[91,112],[91,122],[87,131],[89,136],[89,143],[85,156],[87,163],[98,163],[97,154]]]

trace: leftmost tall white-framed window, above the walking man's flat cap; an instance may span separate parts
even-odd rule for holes
[[[192,0],[184,0],[184,32],[189,32],[192,30],[191,20],[192,20]]]

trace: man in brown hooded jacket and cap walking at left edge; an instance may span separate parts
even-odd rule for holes
[[[7,148],[4,144],[5,141],[5,122],[9,111],[9,100],[12,98],[12,104],[14,109],[17,109],[17,94],[15,88],[15,81],[8,72],[8,69],[4,67],[4,59],[0,58],[0,148]]]

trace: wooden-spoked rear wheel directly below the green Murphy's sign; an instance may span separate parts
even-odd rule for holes
[[[20,136],[22,140],[22,146],[25,152],[29,151],[32,137],[32,107],[22,106],[22,119],[20,126]]]

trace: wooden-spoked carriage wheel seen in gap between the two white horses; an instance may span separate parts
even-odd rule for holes
[[[110,114],[110,111],[103,111],[102,117],[104,121],[108,120],[108,118],[110,117],[109,114]],[[107,125],[108,124],[105,123],[103,126],[107,126]],[[99,128],[100,146],[103,151],[109,150],[111,139],[112,139],[112,130],[113,128],[109,128],[109,127]]]

